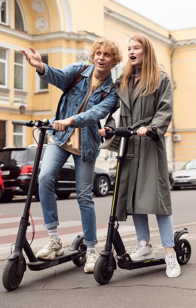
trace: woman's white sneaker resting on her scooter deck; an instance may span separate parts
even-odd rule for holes
[[[130,254],[133,261],[142,261],[146,259],[153,259],[155,257],[153,247],[146,246],[146,241],[140,241],[140,243],[134,248]]]

